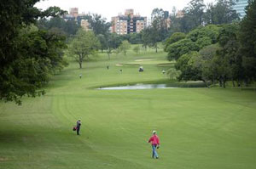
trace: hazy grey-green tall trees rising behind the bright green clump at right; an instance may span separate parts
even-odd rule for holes
[[[239,20],[232,0],[218,0],[217,3],[205,5],[203,0],[192,0],[183,8],[183,17],[177,16],[174,8],[171,14],[172,25],[169,32],[189,32],[200,25],[230,24]]]

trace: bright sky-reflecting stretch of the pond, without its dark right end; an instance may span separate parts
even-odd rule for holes
[[[97,88],[99,90],[127,90],[127,89],[152,89],[152,88],[177,88],[168,87],[167,84],[137,84],[137,85],[127,85],[121,87],[101,87]]]

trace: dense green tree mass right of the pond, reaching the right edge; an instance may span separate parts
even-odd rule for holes
[[[241,22],[199,26],[193,31],[173,33],[165,42],[167,59],[183,81],[201,80],[209,84],[226,82],[247,86],[256,78],[256,3],[248,1]]]

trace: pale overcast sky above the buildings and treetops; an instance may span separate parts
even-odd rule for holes
[[[44,0],[36,4],[36,7],[46,9],[50,6],[57,6],[69,11],[69,8],[79,8],[79,14],[96,13],[111,20],[112,16],[119,13],[124,14],[126,8],[133,8],[134,13],[149,17],[154,8],[163,8],[172,11],[172,7],[183,9],[190,0]],[[205,0],[211,3],[214,0]]]

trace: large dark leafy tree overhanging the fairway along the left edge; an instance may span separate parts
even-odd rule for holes
[[[51,72],[61,67],[63,38],[46,31],[25,31],[38,18],[65,14],[60,8],[40,11],[38,0],[9,0],[0,4],[0,99],[21,104],[20,98],[38,96]],[[26,33],[24,33],[24,31]],[[61,60],[60,60],[61,59]],[[46,64],[47,62],[47,64]],[[55,67],[55,65],[57,65]]]

